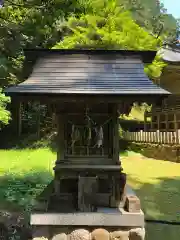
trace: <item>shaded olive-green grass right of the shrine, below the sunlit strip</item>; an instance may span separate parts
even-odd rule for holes
[[[141,200],[146,219],[180,222],[180,177],[159,178],[158,183],[142,184],[128,176],[129,182],[140,186],[135,191]],[[179,240],[180,226],[147,223],[147,240]]]

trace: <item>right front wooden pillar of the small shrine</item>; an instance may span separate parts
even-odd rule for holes
[[[113,162],[119,163],[119,120],[117,105],[113,107]]]

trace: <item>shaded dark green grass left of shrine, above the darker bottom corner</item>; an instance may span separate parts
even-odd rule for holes
[[[51,172],[38,170],[24,175],[6,174],[0,177],[0,208],[29,213],[34,200],[51,182]]]

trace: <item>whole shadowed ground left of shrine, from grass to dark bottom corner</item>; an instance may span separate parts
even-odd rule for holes
[[[29,214],[52,178],[52,173],[43,169],[0,177],[0,223],[7,239],[31,239]]]

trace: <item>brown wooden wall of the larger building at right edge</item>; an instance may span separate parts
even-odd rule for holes
[[[164,99],[161,107],[152,106],[152,111],[145,115],[151,118],[150,126],[145,131],[177,132],[180,129],[180,66],[169,65],[161,75],[160,86],[172,93]]]

